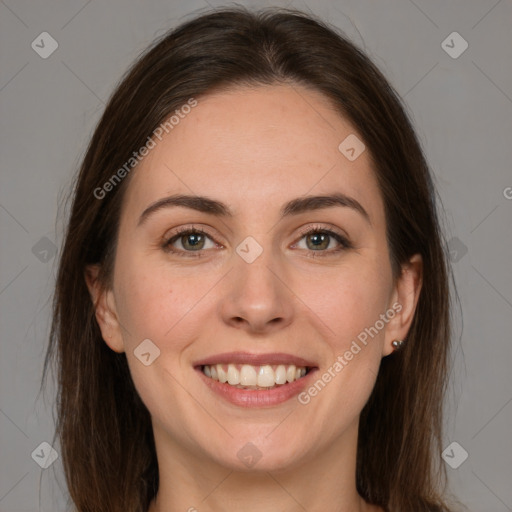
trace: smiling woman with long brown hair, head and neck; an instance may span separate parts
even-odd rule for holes
[[[46,365],[79,511],[451,510],[435,190],[378,69],[297,11],[155,43],[81,166]]]

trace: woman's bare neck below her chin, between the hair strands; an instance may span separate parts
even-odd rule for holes
[[[336,446],[286,469],[239,471],[191,453],[155,427],[160,486],[149,512],[370,512],[356,490],[357,423]],[[299,460],[300,459],[300,460]]]

